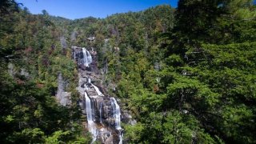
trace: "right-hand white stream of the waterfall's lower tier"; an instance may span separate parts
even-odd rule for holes
[[[121,111],[120,106],[118,105],[118,102],[115,100],[115,98],[110,98],[111,106],[113,107],[113,113],[114,113],[114,122],[115,122],[115,128],[119,130],[119,144],[122,144],[122,134],[121,134]]]

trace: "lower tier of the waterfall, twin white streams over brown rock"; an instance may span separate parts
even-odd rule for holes
[[[81,86],[85,90],[83,108],[87,129],[93,136],[93,142],[122,144],[121,110],[116,99],[104,96],[98,86],[90,83],[90,78],[86,78]]]

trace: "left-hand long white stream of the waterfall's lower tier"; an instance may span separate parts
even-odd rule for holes
[[[93,136],[93,141],[92,143],[96,140],[97,138],[97,131],[96,131],[96,126],[94,125],[94,118],[92,114],[92,107],[90,105],[90,98],[85,92],[85,97],[86,97],[86,115],[87,115],[87,122],[88,122],[88,130],[90,131],[90,134]]]

